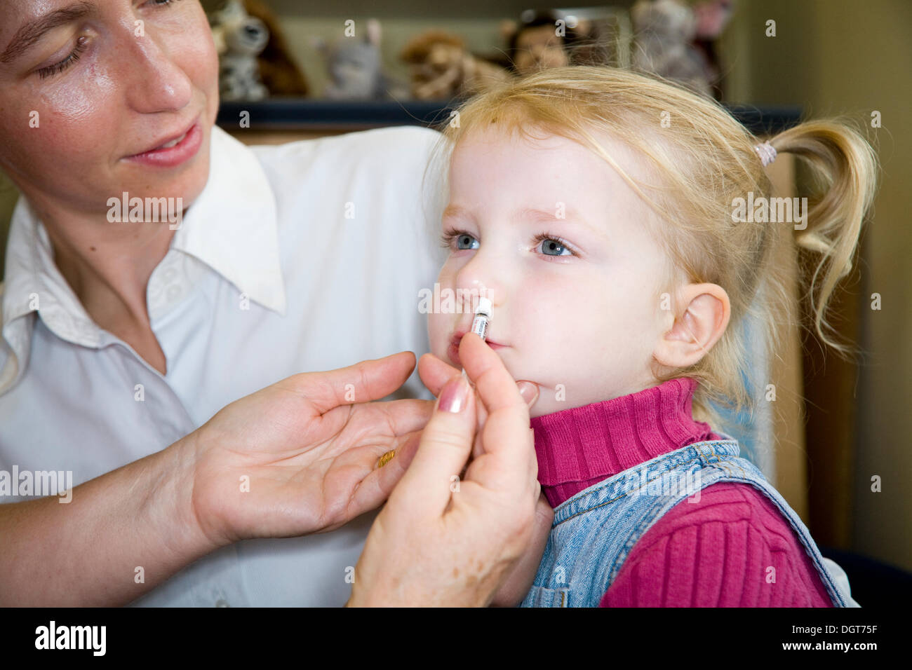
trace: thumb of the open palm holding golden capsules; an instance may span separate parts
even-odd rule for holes
[[[400,351],[336,370],[290,376],[283,384],[305,397],[317,413],[325,414],[340,405],[389,396],[405,384],[413,369],[415,355],[410,351]]]

